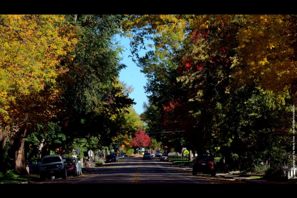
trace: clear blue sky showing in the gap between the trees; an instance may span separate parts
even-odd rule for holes
[[[129,38],[124,37],[116,37],[116,40],[120,42],[119,45],[123,45],[124,52],[122,53],[121,57],[123,58],[121,63],[127,65],[125,69],[122,69],[120,72],[119,80],[123,81],[127,84],[127,86],[131,86],[134,88],[133,92],[129,95],[130,98],[134,99],[136,105],[134,105],[134,109],[138,114],[143,113],[142,105],[144,102],[147,102],[146,93],[144,93],[144,86],[146,84],[147,79],[145,78],[144,74],[140,72],[140,67],[137,67],[136,64],[132,61],[130,53],[130,45],[129,45]],[[145,51],[142,50],[140,56],[144,55]]]

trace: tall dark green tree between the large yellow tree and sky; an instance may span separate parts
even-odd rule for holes
[[[121,112],[134,104],[118,81],[118,73],[126,67],[120,64],[122,49],[114,42],[120,15],[67,16],[80,28],[80,39],[73,60],[65,60],[69,80],[63,94],[64,110],[58,121],[67,136],[97,137],[100,146],[110,145],[112,138],[122,132],[117,123]]]

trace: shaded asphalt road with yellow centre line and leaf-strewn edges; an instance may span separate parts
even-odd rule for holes
[[[192,175],[192,170],[172,162],[142,160],[139,157],[121,157],[98,168],[89,168],[83,175],[67,179],[47,179],[35,183],[80,183],[80,184],[197,184],[197,183],[245,183],[233,178],[207,174]]]

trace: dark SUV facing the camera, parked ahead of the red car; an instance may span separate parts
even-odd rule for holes
[[[66,179],[67,172],[64,161],[60,155],[46,155],[43,157],[39,168],[40,179],[57,179],[60,177]]]

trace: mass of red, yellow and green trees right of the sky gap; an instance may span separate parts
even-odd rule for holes
[[[295,20],[296,15],[125,19],[124,34],[133,35],[131,53],[148,77],[149,103],[141,115],[146,130],[171,129],[154,136],[175,149],[186,146],[227,158],[237,153],[239,169],[259,160],[287,161],[296,101]],[[140,57],[144,38],[156,50]]]

